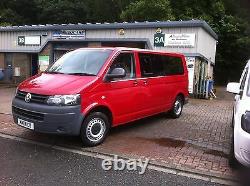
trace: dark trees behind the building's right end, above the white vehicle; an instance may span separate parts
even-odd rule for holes
[[[242,68],[250,57],[249,19],[246,9],[240,6],[241,2],[245,3],[243,1],[171,0],[177,20],[205,20],[218,34],[215,65],[217,84],[239,80]]]

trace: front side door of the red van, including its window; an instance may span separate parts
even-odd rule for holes
[[[113,112],[114,125],[138,119],[140,88],[136,79],[133,52],[122,52],[112,62],[108,73],[114,68],[123,68],[126,77],[106,82],[107,102]]]

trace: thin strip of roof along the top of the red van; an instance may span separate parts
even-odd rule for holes
[[[184,56],[182,53],[177,52],[168,52],[168,51],[159,51],[159,50],[148,50],[148,49],[140,49],[140,48],[129,48],[129,47],[91,47],[91,48],[79,48],[77,50],[84,49],[109,49],[114,51],[138,51],[138,52],[151,52],[151,53],[161,53],[161,54],[174,54]]]

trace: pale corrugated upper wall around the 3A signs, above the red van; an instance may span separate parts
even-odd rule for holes
[[[119,29],[116,30],[87,30],[86,38],[113,38],[113,39],[128,39],[128,38],[143,38],[149,39],[152,46],[154,46],[154,34],[157,28],[152,29],[127,29],[124,30],[124,35],[119,34]],[[216,40],[209,35],[202,28],[162,28],[164,34],[181,34],[181,33],[195,33],[196,42],[195,47],[154,47],[155,50],[180,52],[187,54],[201,54],[207,59],[215,62]]]

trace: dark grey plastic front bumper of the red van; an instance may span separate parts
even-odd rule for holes
[[[49,106],[26,103],[14,98],[12,101],[14,122],[18,118],[34,123],[34,131],[50,134],[79,135],[84,116],[81,106]]]

